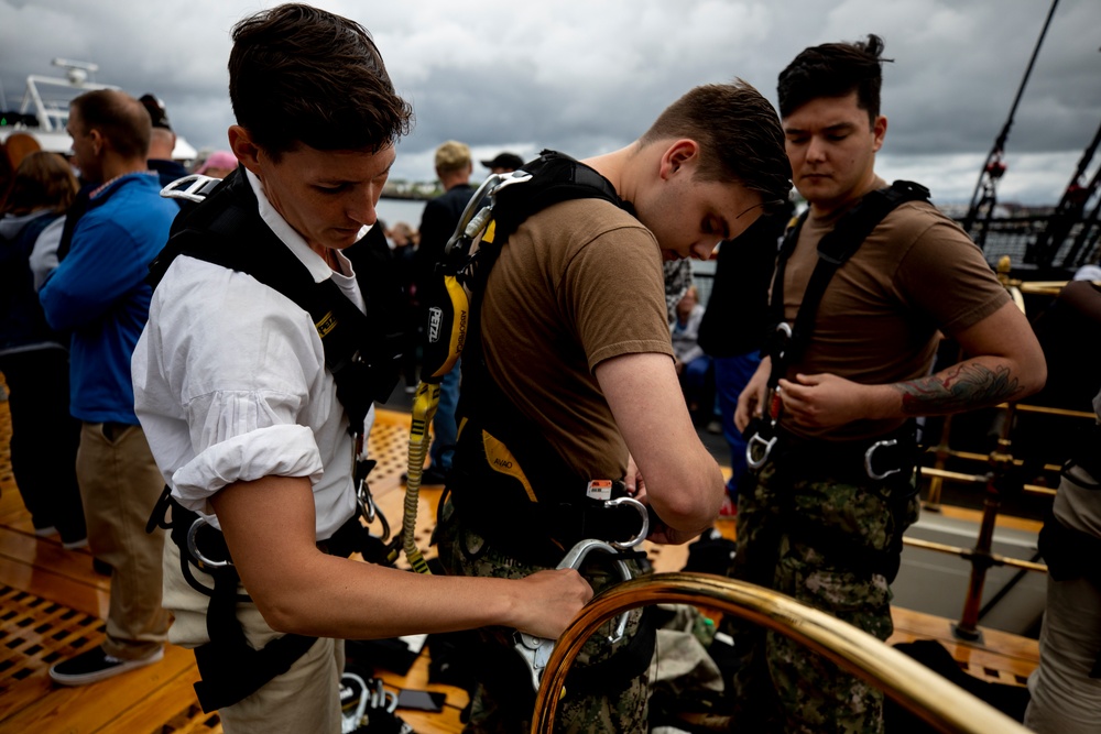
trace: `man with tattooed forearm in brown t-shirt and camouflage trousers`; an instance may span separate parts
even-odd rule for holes
[[[815,46],[780,75],[787,154],[809,204],[773,285],[782,288],[774,307],[788,325],[803,306],[819,241],[886,186],[874,172],[887,129],[879,100],[882,50],[874,35]],[[968,359],[929,374],[939,332]],[[778,358],[763,360],[739,398],[740,429],[765,407],[778,428],[771,451],[754,456],[755,486],[739,497],[733,573],[886,639],[902,534],[917,517],[911,419],[1029,395],[1044,384],[1044,355],[979,249],[927,201],[891,211],[837,270],[805,344],[777,368],[775,398],[766,398],[766,387]],[[897,443],[876,446],[891,440]],[[882,730],[877,690],[789,640],[742,634],[735,647],[745,650],[745,664],[733,693],[752,701],[752,711],[735,712],[740,728]]]

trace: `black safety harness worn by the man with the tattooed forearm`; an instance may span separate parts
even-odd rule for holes
[[[825,441],[796,436],[780,426],[781,398],[780,380],[806,351],[814,332],[818,306],[833,274],[860,249],[872,230],[896,207],[907,201],[927,201],[929,191],[913,182],[896,180],[886,188],[870,191],[860,202],[838,219],[833,229],[818,243],[818,262],[811,271],[795,324],[784,319],[784,271],[788,259],[799,241],[799,232],[809,211],[804,212],[789,228],[784,238],[776,262],[770,310],[775,328],[768,336],[765,352],[772,361],[768,373],[767,399],[763,415],[746,428],[748,443],[745,457],[751,470],[760,471],[770,461],[775,471],[791,479],[799,479],[813,472],[828,475],[837,481],[866,484],[879,483],[890,494],[885,500],[896,523],[913,495],[912,478],[918,463],[919,448],[916,427],[907,421],[902,428],[874,440]],[[804,522],[798,513],[780,508],[789,525],[797,526],[793,533],[804,540],[813,541],[816,535],[822,537],[818,545],[829,548],[830,558],[851,570],[864,569],[869,573],[883,573],[893,579],[897,573],[897,554],[887,552],[882,557],[869,554],[865,546],[855,544],[847,536],[822,530],[813,523]],[[791,508],[786,508],[791,510]],[[901,533],[897,544],[902,543]]]

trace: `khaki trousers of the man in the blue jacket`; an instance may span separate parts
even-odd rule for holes
[[[164,532],[145,533],[164,482],[141,427],[85,423],[76,474],[88,547],[112,569],[103,649],[127,660],[149,657],[163,645],[170,617],[161,606]]]

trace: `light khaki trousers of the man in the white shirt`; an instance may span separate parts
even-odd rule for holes
[[[214,580],[197,570],[196,580],[214,589]],[[243,587],[238,587],[246,593]],[[164,605],[175,616],[170,639],[183,647],[198,647],[210,642],[207,632],[207,606],[210,598],[188,585],[179,568],[179,549],[164,544]],[[237,618],[249,644],[263,647],[279,633],[268,626],[255,604],[237,605]],[[344,640],[318,638],[291,669],[273,678],[252,695],[218,710],[226,734],[263,732],[340,732],[340,675],[344,672]]]

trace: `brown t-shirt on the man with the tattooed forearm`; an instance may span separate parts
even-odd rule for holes
[[[784,274],[788,322],[795,321],[818,262],[818,242],[836,221],[810,216],[803,226]],[[787,377],[830,373],[873,385],[924,376],[936,355],[938,329],[958,333],[1009,299],[982,252],[956,222],[927,202],[904,204],[833,274],[806,352]],[[902,424],[859,420],[829,431],[784,425],[803,436],[850,439],[880,436]]]

